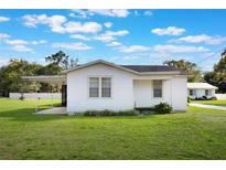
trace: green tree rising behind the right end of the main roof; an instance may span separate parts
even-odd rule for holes
[[[198,70],[195,63],[184,61],[184,60],[180,60],[180,61],[171,60],[171,61],[163,62],[163,64],[180,68],[182,71],[186,71],[189,75],[191,75],[187,79],[189,82],[201,82],[202,81],[201,71]]]

